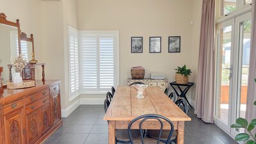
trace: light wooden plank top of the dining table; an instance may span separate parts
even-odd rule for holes
[[[140,115],[163,115],[172,121],[190,121],[171,99],[158,87],[150,86],[143,92],[144,99],[137,99],[137,91],[132,86],[118,86],[104,120],[133,120]]]

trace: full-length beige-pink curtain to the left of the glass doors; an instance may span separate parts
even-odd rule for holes
[[[203,0],[195,113],[204,122],[213,123],[214,116],[214,5]]]

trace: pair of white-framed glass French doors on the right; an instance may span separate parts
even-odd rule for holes
[[[216,26],[216,103],[214,122],[236,136],[243,129],[230,129],[236,118],[245,118],[250,61],[251,13]]]

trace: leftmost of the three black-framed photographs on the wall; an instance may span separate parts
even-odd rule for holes
[[[143,37],[132,37],[131,38],[131,52],[142,53],[143,52]]]

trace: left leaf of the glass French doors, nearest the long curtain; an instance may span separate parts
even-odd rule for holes
[[[216,104],[214,122],[230,131],[234,19],[217,26]]]

